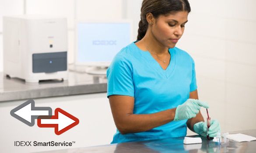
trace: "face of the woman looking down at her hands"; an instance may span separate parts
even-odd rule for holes
[[[173,48],[181,38],[187,21],[187,11],[179,11],[167,16],[160,15],[154,20],[151,32],[163,46]]]

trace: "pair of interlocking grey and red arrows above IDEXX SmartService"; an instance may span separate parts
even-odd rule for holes
[[[66,132],[79,123],[78,118],[60,108],[56,108],[55,115],[52,115],[50,107],[35,107],[35,101],[32,99],[12,109],[10,114],[28,126],[35,125],[37,119],[40,128],[54,128],[56,135]]]

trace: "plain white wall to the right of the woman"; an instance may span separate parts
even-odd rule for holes
[[[220,121],[222,131],[256,129],[256,1],[190,4],[177,46],[195,60],[200,99],[210,104],[210,115]]]

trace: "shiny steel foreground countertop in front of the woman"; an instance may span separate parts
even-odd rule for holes
[[[256,137],[256,129],[229,132],[243,133]],[[192,136],[199,137],[199,136]],[[93,146],[84,148],[74,148],[67,150],[53,150],[40,153],[255,153],[256,141],[238,143],[233,140],[227,140],[220,146],[213,141],[202,138],[199,144],[183,144],[184,137],[159,139],[133,143],[119,143],[105,146]]]

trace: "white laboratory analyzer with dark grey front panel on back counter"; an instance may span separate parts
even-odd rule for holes
[[[65,17],[3,17],[4,75],[26,82],[67,80]]]

